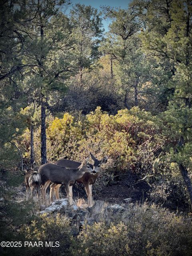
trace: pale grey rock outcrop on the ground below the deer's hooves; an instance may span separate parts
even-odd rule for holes
[[[40,211],[40,214],[44,213],[57,213],[65,214],[70,219],[70,225],[72,226],[72,233],[76,236],[82,228],[82,225],[86,222],[89,225],[94,222],[106,223],[111,222],[129,222],[130,221],[130,209],[134,207],[131,203],[132,198],[124,199],[128,202],[127,205],[108,204],[104,201],[95,201],[92,207],[82,209],[76,205],[68,207],[68,200],[61,199],[53,202],[52,205]]]

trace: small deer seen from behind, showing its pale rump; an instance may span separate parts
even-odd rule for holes
[[[26,172],[25,175],[25,186],[26,186],[26,199],[29,199],[29,193],[31,190],[30,198],[33,198],[34,189],[36,189],[38,199],[40,199],[40,185],[41,185],[41,176],[39,172],[35,171],[36,164],[35,162],[32,164],[30,169],[24,169]]]

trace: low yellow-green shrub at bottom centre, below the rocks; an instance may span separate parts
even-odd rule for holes
[[[85,225],[71,248],[74,256],[130,255],[127,226],[122,222],[107,227],[104,223]]]

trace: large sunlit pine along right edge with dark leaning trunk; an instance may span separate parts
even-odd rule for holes
[[[192,185],[188,175],[192,166],[192,2],[153,0],[146,16],[142,48],[154,56],[157,68],[162,71],[162,77],[158,76],[158,79],[162,80],[167,105],[163,116],[176,142],[168,145],[167,156],[178,164],[192,204]]]

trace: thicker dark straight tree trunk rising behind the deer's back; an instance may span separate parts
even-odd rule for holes
[[[47,162],[46,150],[46,123],[45,123],[45,97],[41,93],[41,164]]]

